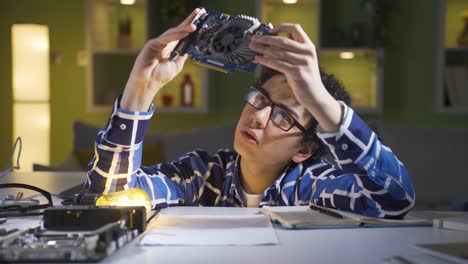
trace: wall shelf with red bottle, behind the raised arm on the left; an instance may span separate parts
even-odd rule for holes
[[[153,30],[148,28],[150,18],[164,11],[163,6],[155,9],[156,2],[136,0],[133,5],[123,5],[119,0],[86,0],[88,111],[109,111],[123,92],[147,36],[154,37]],[[206,75],[203,67],[187,60],[182,72],[155,97],[157,111],[207,112]]]

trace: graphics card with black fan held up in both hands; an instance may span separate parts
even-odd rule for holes
[[[253,71],[256,53],[249,49],[250,38],[273,28],[254,17],[203,10],[192,23],[197,29],[179,41],[171,59],[189,54],[194,62],[222,72]]]

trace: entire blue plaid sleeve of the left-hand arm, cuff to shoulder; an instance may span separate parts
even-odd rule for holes
[[[223,153],[210,156],[194,151],[172,163],[141,167],[143,138],[155,108],[152,105],[148,112],[124,110],[119,107],[120,98],[96,137],[85,188],[95,193],[140,188],[149,194],[153,207],[198,204],[204,184],[209,182],[204,178],[207,171],[214,164],[218,169],[224,167]]]

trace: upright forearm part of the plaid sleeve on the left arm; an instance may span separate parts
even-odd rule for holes
[[[94,157],[88,165],[85,188],[109,193],[128,188],[128,182],[141,166],[142,142],[154,113],[133,112],[114,103],[112,114],[96,136]]]

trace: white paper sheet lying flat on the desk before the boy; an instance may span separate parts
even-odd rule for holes
[[[270,220],[259,214],[163,214],[140,241],[140,245],[145,246],[253,246],[277,243]]]

